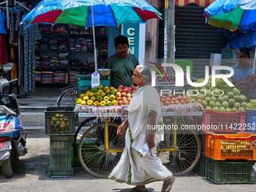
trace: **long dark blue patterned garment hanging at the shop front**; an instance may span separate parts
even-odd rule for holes
[[[25,21],[20,26],[20,35],[24,40],[24,93],[35,92],[35,41],[41,39],[38,24],[29,26]]]

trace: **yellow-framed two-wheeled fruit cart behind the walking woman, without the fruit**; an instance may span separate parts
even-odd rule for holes
[[[165,118],[165,141],[160,142],[156,155],[175,175],[182,175],[194,168],[200,158],[201,144],[194,129],[180,129],[178,118],[203,116],[199,103],[163,106]],[[79,137],[78,157],[81,166],[97,177],[107,177],[120,160],[125,146],[125,136],[117,136],[119,124],[111,122],[110,118],[127,117],[126,105],[88,106],[76,105],[75,111],[79,117],[92,117],[84,120],[83,135]],[[187,118],[187,119],[190,119]],[[169,127],[169,128],[168,128]],[[77,136],[78,138],[78,136]]]

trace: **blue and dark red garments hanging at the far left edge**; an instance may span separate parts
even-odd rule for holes
[[[5,12],[0,12],[0,64],[8,63],[8,54],[5,44]]]

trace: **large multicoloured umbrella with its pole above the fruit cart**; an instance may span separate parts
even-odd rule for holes
[[[160,13],[145,0],[44,0],[24,17],[35,23],[93,26],[95,69],[97,69],[94,26],[146,23]]]

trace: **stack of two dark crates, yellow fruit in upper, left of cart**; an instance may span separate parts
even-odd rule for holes
[[[50,136],[50,178],[72,177],[72,143],[75,134],[73,107],[46,108],[45,133]]]

